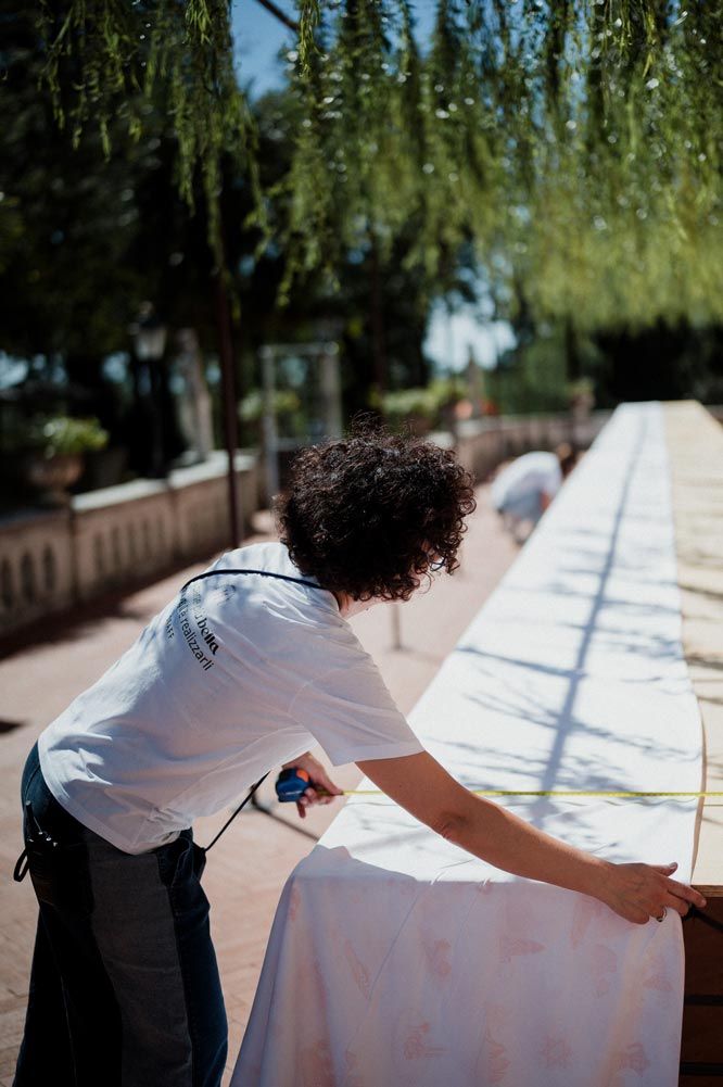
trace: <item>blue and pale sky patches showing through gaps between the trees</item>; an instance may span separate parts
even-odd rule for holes
[[[290,18],[297,10],[289,0],[275,0],[276,5]],[[420,0],[414,4],[416,37],[421,48],[428,40],[434,24],[434,0]],[[295,36],[258,0],[234,0],[232,25],[236,53],[236,70],[242,86],[250,86],[252,98],[284,84],[284,65],[278,59],[284,47],[291,49]],[[470,351],[481,366],[491,367],[498,354],[514,345],[512,329],[507,322],[483,323],[473,309],[461,309],[449,315],[445,305],[433,309],[424,342],[424,352],[440,370],[463,370]]]

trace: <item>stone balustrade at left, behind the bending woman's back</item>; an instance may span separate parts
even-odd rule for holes
[[[259,508],[255,455],[237,453],[239,507]],[[0,636],[228,544],[226,457],[0,518]]]

